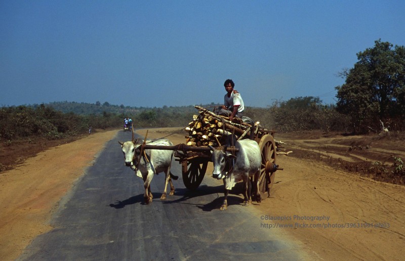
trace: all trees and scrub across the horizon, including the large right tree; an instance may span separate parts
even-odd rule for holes
[[[323,104],[318,97],[296,97],[276,101],[266,108],[248,107],[245,115],[268,129],[281,133],[320,130],[325,133],[358,135],[403,132],[405,130],[405,47],[375,41],[373,48],[357,54],[353,68],[339,76],[337,104]],[[214,107],[220,104],[199,104]],[[122,128],[131,117],[135,128],[187,126],[194,106],[147,108],[91,103],[54,102],[0,108],[2,148],[18,140],[42,138],[60,140],[93,130]],[[373,163],[370,171],[388,171],[405,176],[401,158],[392,166]],[[8,169],[0,162],[0,171]]]

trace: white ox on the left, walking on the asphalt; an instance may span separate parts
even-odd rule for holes
[[[165,190],[161,195],[160,199],[166,199],[166,191],[168,183],[170,183],[170,195],[174,195],[174,186],[172,183],[172,178],[177,180],[177,176],[172,175],[170,172],[170,166],[172,163],[173,151],[172,150],[144,150],[142,155],[139,154],[142,144],[137,144],[136,141],[127,141],[125,143],[118,142],[121,144],[123,149],[125,165],[131,167],[131,169],[136,171],[136,175],[142,178],[144,182],[145,203],[149,204],[152,202],[153,196],[150,191],[150,182],[152,181],[153,175],[160,172],[165,172]],[[159,140],[147,140],[148,145],[159,145],[159,146],[173,146],[173,144],[167,139]]]

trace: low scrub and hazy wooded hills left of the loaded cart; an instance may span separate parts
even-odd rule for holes
[[[94,109],[95,104],[74,102],[2,107],[0,141],[31,136],[57,140],[87,133],[90,125],[93,129],[122,128],[127,117],[132,117],[136,128],[185,126],[196,113],[194,106],[123,110],[120,106],[105,105],[101,106],[104,110]]]

